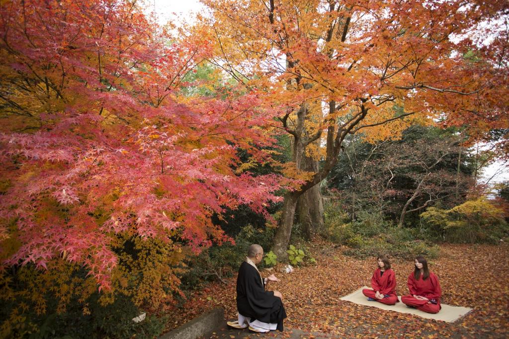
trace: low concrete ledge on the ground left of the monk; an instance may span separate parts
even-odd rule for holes
[[[224,323],[224,310],[217,307],[200,317],[188,321],[171,332],[163,334],[159,339],[196,339],[220,328]]]

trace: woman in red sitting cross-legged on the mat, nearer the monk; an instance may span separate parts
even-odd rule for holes
[[[367,300],[378,301],[386,305],[394,305],[399,302],[396,294],[396,277],[394,271],[390,268],[389,259],[386,256],[377,258],[378,268],[371,278],[371,287],[373,290],[365,288],[362,293]]]

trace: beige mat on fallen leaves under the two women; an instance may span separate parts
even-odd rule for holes
[[[439,321],[445,321],[448,323],[455,322],[461,318],[463,318],[465,315],[467,315],[472,309],[470,307],[463,307],[463,306],[450,306],[446,304],[442,304],[442,309],[437,314],[430,314],[426,312],[419,311],[417,309],[412,309],[410,307],[407,307],[403,302],[401,302],[401,297],[399,296],[398,299],[400,302],[396,303],[395,305],[385,305],[377,301],[368,301],[367,298],[362,294],[362,290],[365,288],[369,288],[367,286],[361,287],[354,292],[345,295],[344,297],[341,297],[341,300],[350,301],[353,303],[356,303],[358,305],[364,305],[364,306],[371,306],[371,307],[377,307],[378,309],[382,309],[385,311],[393,311],[398,313],[407,313],[407,314],[413,314],[422,318],[427,319],[434,319]]]

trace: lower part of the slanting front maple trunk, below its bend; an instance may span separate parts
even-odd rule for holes
[[[274,254],[277,256],[278,261],[286,260],[288,257],[286,251],[289,245],[288,242],[290,241],[293,218],[299,195],[299,193],[295,192],[288,192],[285,195],[285,204],[283,205],[279,226],[277,227],[276,234],[274,235],[274,247],[272,249]]]

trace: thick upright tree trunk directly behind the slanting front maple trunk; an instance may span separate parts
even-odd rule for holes
[[[304,156],[302,170],[318,172],[318,162],[313,158]],[[301,195],[297,201],[297,215],[299,224],[308,240],[314,234],[323,230],[323,203],[320,184],[317,184]]]

